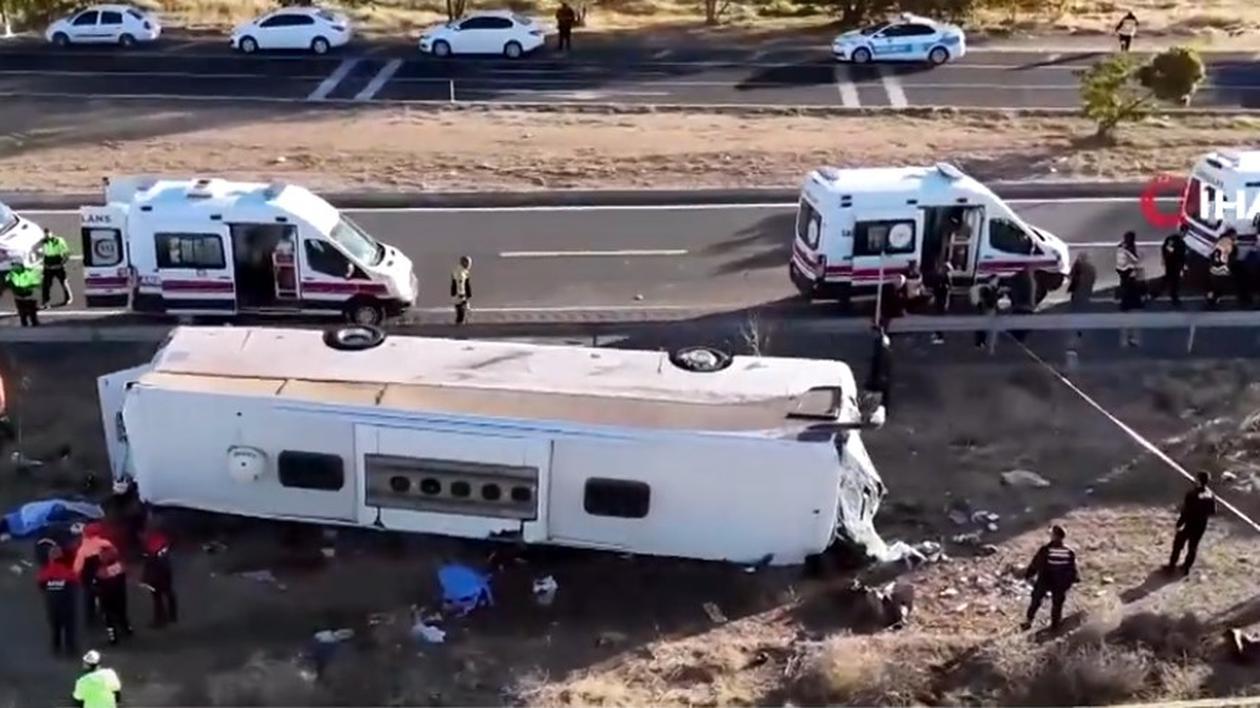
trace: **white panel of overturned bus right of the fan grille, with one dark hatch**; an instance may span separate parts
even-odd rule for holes
[[[740,563],[772,556],[774,564],[794,564],[832,540],[839,472],[830,443],[559,438],[548,529],[566,545]],[[643,485],[645,517],[606,515],[610,495],[622,493],[630,496],[622,513],[636,514]]]

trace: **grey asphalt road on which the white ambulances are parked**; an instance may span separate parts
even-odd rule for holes
[[[1099,287],[1115,280],[1111,248],[1121,232],[1134,229],[1148,242],[1163,236],[1144,226],[1135,199],[1016,205],[1031,223],[1076,247],[1097,249]],[[472,257],[475,309],[508,321],[726,311],[794,295],[788,280],[793,204],[348,213],[417,263],[422,314],[447,311],[447,278],[460,254]],[[77,215],[25,214],[77,241]],[[1152,275],[1158,272],[1155,252],[1147,247]],[[78,263],[72,280],[81,290]],[[82,311],[76,305],[52,314]]]

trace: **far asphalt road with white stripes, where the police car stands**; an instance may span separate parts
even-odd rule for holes
[[[215,102],[629,102],[707,106],[1046,107],[1080,105],[1076,72],[1101,53],[974,50],[958,63],[837,64],[825,45],[722,49],[593,47],[512,62],[440,60],[411,44],[355,43],[328,57],[233,54],[224,42],[129,52],[0,45],[0,96]],[[1193,106],[1260,108],[1260,60],[1212,54]]]

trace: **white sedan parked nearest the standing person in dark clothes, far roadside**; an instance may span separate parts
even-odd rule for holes
[[[547,31],[538,23],[507,10],[474,13],[420,35],[420,50],[435,57],[503,54],[517,59],[546,43]]]

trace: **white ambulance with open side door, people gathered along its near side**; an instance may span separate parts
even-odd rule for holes
[[[1037,272],[1038,299],[1067,276],[1067,244],[953,165],[822,168],[801,188],[789,272],[809,299],[874,294],[911,265],[950,265],[956,288]]]

